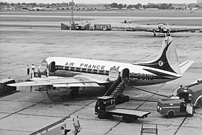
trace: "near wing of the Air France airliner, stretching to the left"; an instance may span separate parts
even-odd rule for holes
[[[46,78],[33,78],[26,82],[12,83],[8,86],[46,86],[52,85],[54,87],[96,87],[99,84],[109,83],[108,81],[99,81],[85,76],[74,77],[46,77]]]

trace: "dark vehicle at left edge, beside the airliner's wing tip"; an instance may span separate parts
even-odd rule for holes
[[[16,87],[8,86],[7,84],[15,83],[14,79],[7,78],[0,81],[0,96],[11,94],[16,91]]]

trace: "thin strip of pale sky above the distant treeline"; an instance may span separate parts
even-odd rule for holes
[[[62,2],[71,2],[72,0],[0,0],[0,2],[9,2],[9,3],[62,3]],[[147,3],[196,3],[197,0],[74,0],[75,3],[122,3],[122,4],[147,4]]]

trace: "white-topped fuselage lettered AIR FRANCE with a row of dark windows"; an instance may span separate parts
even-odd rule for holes
[[[98,80],[97,82],[100,81],[100,83],[109,81],[109,72],[112,67],[117,69],[119,73],[123,69],[129,69],[129,85],[132,86],[164,83],[181,77],[178,74],[156,68],[120,62],[64,57],[49,57],[43,62],[49,65],[49,70],[54,75],[57,75],[58,71],[72,76],[85,75]],[[54,70],[50,68],[52,62],[54,62]]]

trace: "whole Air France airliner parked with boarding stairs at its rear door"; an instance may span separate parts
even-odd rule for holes
[[[13,83],[10,86],[50,85],[53,87],[67,87],[73,91],[80,87],[106,86],[114,82],[118,76],[128,77],[129,86],[152,85],[182,77],[193,62],[188,60],[179,64],[172,37],[166,37],[163,40],[159,55],[153,61],[130,64],[91,59],[48,57],[42,61],[40,68],[40,74],[46,74],[47,77],[37,77],[29,82]]]

